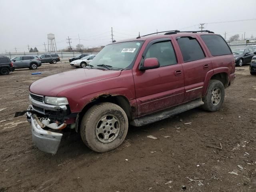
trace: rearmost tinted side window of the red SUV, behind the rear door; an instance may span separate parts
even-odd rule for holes
[[[212,56],[232,54],[225,40],[219,35],[201,35]]]

